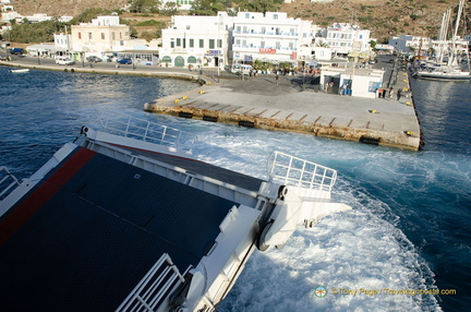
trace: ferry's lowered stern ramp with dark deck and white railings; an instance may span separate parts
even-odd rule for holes
[[[215,311],[258,249],[351,209],[337,171],[267,157],[267,179],[193,157],[192,133],[120,113],[31,178],[0,177],[4,311]]]

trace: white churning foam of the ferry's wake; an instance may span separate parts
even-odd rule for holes
[[[348,142],[219,124],[201,130],[200,159],[259,178],[266,178],[265,163],[276,149],[327,166],[339,158],[345,166],[349,157],[350,165],[361,166],[364,159],[341,152]],[[357,153],[362,154],[361,148]],[[378,156],[366,155],[373,163]],[[282,250],[256,251],[218,311],[439,310],[432,296],[379,293],[430,288],[433,273],[406,236],[383,218],[395,219],[387,204],[358,189],[354,181],[341,180],[341,169],[339,173],[334,197],[353,211],[326,217],[312,229],[300,227]],[[371,175],[385,172],[372,169]],[[315,296],[318,286],[327,289],[326,297]],[[334,295],[336,290],[339,293]]]

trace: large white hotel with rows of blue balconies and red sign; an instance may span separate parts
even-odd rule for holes
[[[233,20],[232,61],[292,62],[311,58],[312,23],[285,12],[239,12]]]

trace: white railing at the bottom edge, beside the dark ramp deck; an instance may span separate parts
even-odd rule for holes
[[[168,304],[165,301],[170,292],[184,280],[170,256],[164,253],[116,311],[156,311]]]

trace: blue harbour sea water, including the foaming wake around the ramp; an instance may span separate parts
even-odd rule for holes
[[[464,311],[471,303],[469,84],[412,81],[425,146],[410,152],[143,111],[145,101],[197,87],[186,81],[8,70],[0,68],[0,165],[19,178],[107,110],[191,131],[196,158],[259,178],[274,151],[338,170],[333,197],[353,209],[299,228],[281,250],[255,251],[218,311]],[[434,295],[444,290],[451,295]]]

